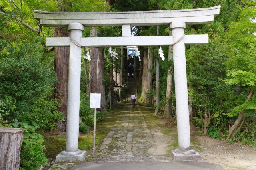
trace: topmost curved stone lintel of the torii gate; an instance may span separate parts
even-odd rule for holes
[[[33,12],[34,18],[47,27],[67,27],[74,22],[84,26],[153,26],[168,25],[176,20],[193,25],[212,22],[220,13],[220,7],[134,12]]]

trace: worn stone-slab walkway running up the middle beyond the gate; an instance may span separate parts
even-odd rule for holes
[[[101,161],[155,160],[148,150],[156,142],[148,129],[144,116],[137,105],[124,105],[115,127],[108,133],[98,152]]]

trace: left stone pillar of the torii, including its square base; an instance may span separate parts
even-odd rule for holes
[[[68,66],[68,113],[66,130],[66,150],[56,156],[56,162],[82,161],[86,151],[78,149],[79,105],[82,48],[79,45],[84,26],[80,23],[70,23],[70,53]]]

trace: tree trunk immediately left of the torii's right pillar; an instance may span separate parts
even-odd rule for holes
[[[171,33],[170,33],[171,34]],[[169,46],[168,60],[173,63],[172,45]],[[164,106],[163,117],[172,117],[172,83],[173,83],[173,66],[170,66],[167,73],[166,101]]]

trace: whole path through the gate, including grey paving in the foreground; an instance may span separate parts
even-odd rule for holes
[[[131,103],[125,103],[122,111],[115,113],[115,125],[97,147],[97,156],[89,162],[54,164],[49,170],[223,170],[218,164],[208,162],[172,162],[167,153],[168,143],[173,142],[171,137],[145,121],[145,110],[148,109],[139,105],[132,108]]]

